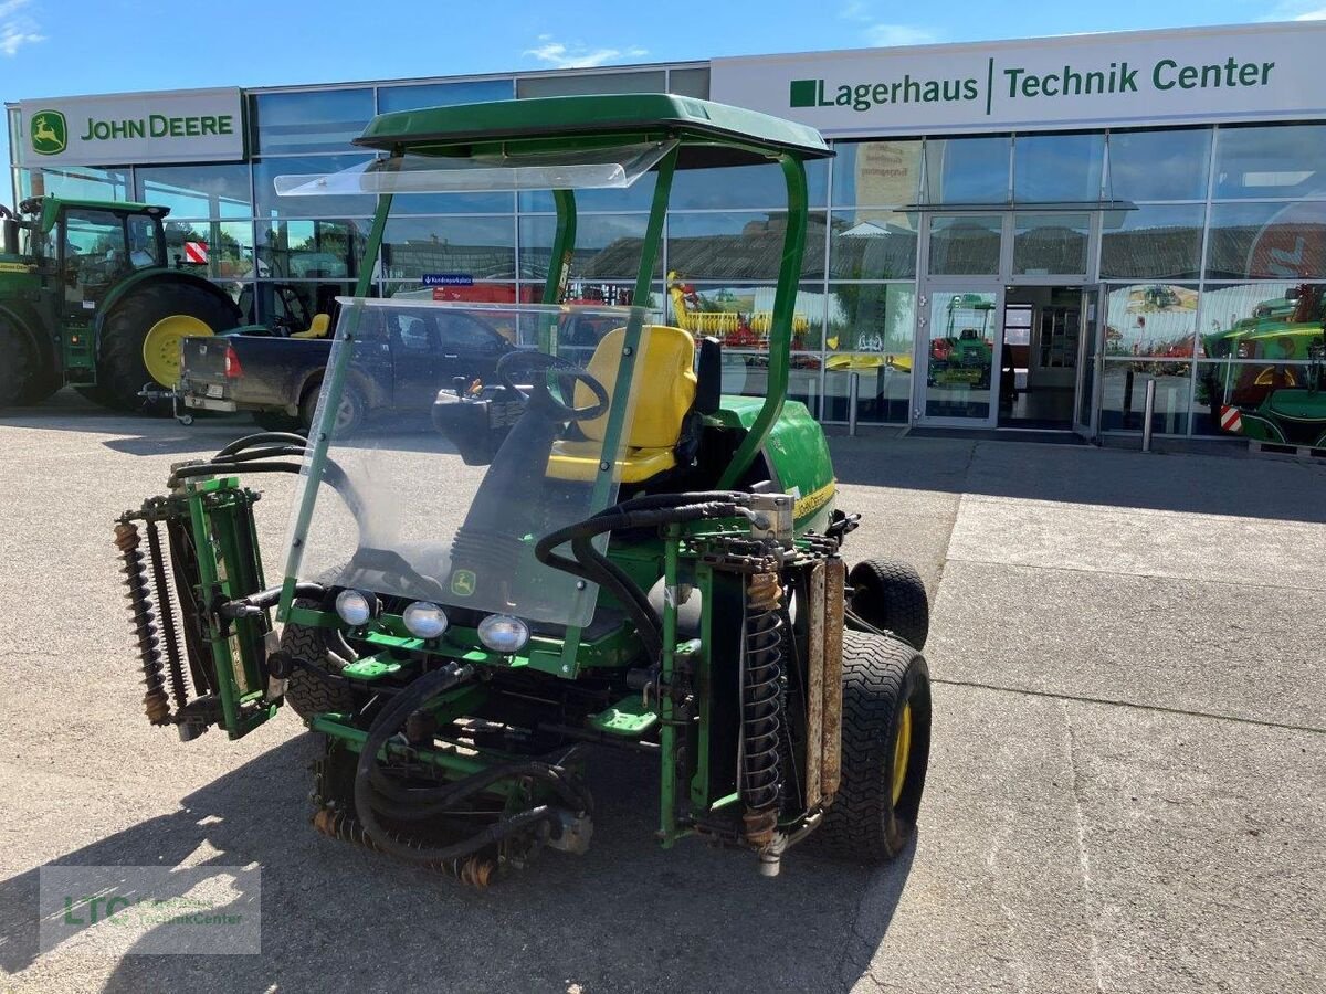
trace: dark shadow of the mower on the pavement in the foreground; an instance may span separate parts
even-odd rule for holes
[[[663,852],[652,839],[656,773],[599,751],[590,854],[548,852],[475,892],[318,835],[306,799],[317,751],[312,734],[288,740],[190,794],[180,811],[52,860],[179,865],[202,851],[202,865],[263,867],[261,956],[126,956],[103,990],[846,990],[911,867],[912,848],[873,871],[808,846],[769,880],[748,854],[696,840]],[[37,892],[37,869],[0,881],[9,975],[41,969]],[[866,904],[870,921],[857,921]]]

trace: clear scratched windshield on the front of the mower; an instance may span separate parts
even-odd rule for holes
[[[646,322],[629,307],[342,300],[310,432],[326,460],[305,460],[286,574],[587,624],[597,587],[544,566],[534,543],[615,501]]]

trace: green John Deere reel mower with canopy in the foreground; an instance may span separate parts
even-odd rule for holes
[[[585,851],[595,747],[656,771],[664,847],[701,836],[768,875],[812,834],[896,855],[930,754],[926,591],[900,563],[849,571],[859,516],[835,508],[823,433],[785,399],[805,162],[831,155],[818,133],[623,94],[385,114],[358,144],[385,156],[277,191],[378,195],[373,260],[395,196],[552,190],[549,304],[370,300],[363,276],[308,441],[240,439],[119,518],[147,717],[237,738],[288,704],[325,740],[318,830],[476,885]],[[723,396],[720,343],[643,307],[575,307],[609,329],[587,359],[558,341],[578,190],[652,188],[640,301],[675,172],[758,163],[788,191],[766,396]],[[457,319],[520,347],[497,382],[412,387],[414,350]],[[436,431],[338,429],[345,391],[383,388],[434,391]],[[481,432],[499,432],[491,457],[456,455]],[[271,587],[239,481],[257,472],[300,474]]]

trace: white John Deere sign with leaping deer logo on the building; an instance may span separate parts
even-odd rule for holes
[[[216,162],[244,155],[237,89],[24,101],[24,164]]]

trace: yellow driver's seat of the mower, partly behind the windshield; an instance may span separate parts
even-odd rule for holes
[[[609,399],[617,386],[625,341],[625,327],[609,331],[586,367],[607,390]],[[648,480],[676,465],[675,449],[682,437],[682,423],[695,403],[695,339],[690,333],[667,325],[648,325],[640,341],[643,353],[635,367],[635,410],[630,412],[626,428],[626,452],[617,463],[617,472],[625,484]],[[593,403],[594,392],[577,383],[575,406],[589,407]],[[579,421],[579,429],[583,440],[553,444],[548,476],[554,480],[587,481],[599,472],[607,412]]]

